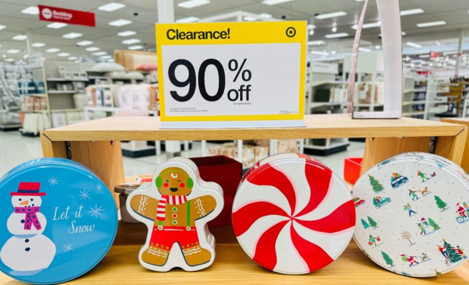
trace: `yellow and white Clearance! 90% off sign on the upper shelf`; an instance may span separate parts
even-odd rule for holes
[[[156,24],[161,127],[303,126],[306,22]]]

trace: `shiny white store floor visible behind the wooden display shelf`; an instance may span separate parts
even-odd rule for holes
[[[344,158],[362,157],[363,150],[364,143],[350,142],[350,146],[347,151],[317,158],[328,165],[338,175],[343,177]],[[184,157],[199,157],[201,154],[200,142],[194,142],[191,150],[182,152],[182,156]],[[40,157],[42,157],[42,149],[39,138],[23,137],[16,131],[0,132],[0,177],[14,166]],[[124,157],[123,160],[125,176],[133,176],[153,173],[157,165],[166,161],[166,155],[149,156],[137,159]]]

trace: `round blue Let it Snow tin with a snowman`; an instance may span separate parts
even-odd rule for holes
[[[0,179],[0,209],[0,271],[33,284],[85,274],[117,232],[109,189],[67,159],[36,159],[11,169]]]

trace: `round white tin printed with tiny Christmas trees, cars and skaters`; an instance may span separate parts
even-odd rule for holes
[[[454,162],[405,153],[372,167],[353,187],[354,239],[377,264],[406,276],[440,275],[469,248],[469,180]]]

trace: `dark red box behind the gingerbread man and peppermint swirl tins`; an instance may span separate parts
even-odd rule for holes
[[[226,156],[197,157],[191,160],[199,168],[200,176],[207,182],[216,182],[223,189],[225,205],[220,215],[208,222],[210,227],[231,225],[231,208],[241,181],[243,165]]]

